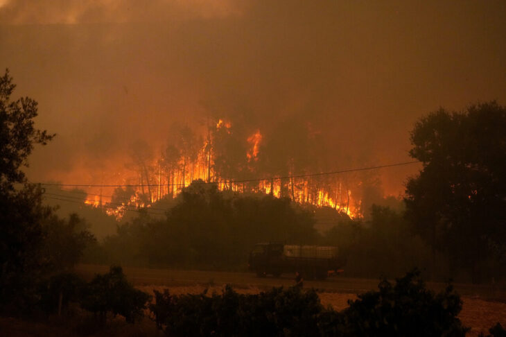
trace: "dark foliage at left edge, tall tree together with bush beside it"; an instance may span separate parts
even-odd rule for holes
[[[54,216],[42,203],[43,189],[26,180],[21,168],[35,144],[54,135],[35,128],[37,102],[12,101],[14,89],[6,71],[0,77],[0,311],[10,313],[30,308],[40,277],[76,263],[93,240],[76,216],[68,223]]]

